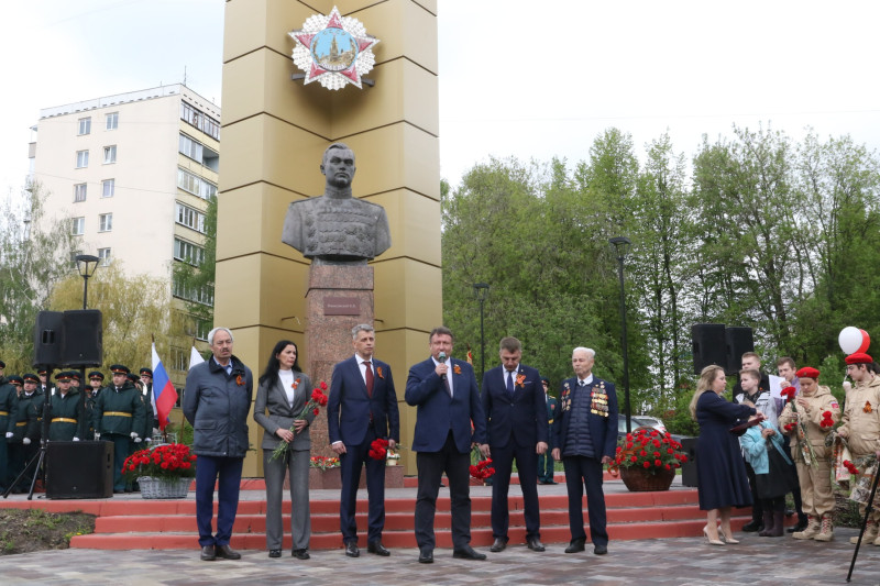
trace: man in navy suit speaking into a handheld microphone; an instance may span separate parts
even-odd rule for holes
[[[414,365],[405,399],[416,409],[413,451],[417,452],[416,542],[419,562],[433,562],[433,518],[440,478],[446,472],[452,513],[452,556],[485,560],[471,548],[471,446],[486,442],[486,420],[470,364],[450,360],[452,331],[435,328],[428,338],[431,357]],[[473,422],[473,434],[471,423]]]

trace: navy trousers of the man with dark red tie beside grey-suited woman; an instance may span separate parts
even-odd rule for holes
[[[366,490],[370,497],[370,515],[367,518],[367,543],[382,539],[385,527],[385,461],[370,457],[370,444],[376,440],[376,431],[371,425],[366,430],[364,442],[360,445],[346,445],[345,453],[339,458],[342,473],[342,494],[339,504],[340,529],[342,541],[358,539],[358,526],[354,521],[358,504],[358,485],[361,482],[361,467],[366,467]]]

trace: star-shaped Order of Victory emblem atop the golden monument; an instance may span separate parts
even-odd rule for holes
[[[294,64],[306,73],[306,84],[315,80],[327,89],[342,89],[348,84],[361,86],[361,76],[376,63],[373,46],[378,38],[366,34],[358,19],[342,16],[337,7],[330,14],[312,14],[301,31],[290,31]]]

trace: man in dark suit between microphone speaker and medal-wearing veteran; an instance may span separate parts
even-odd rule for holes
[[[522,344],[516,338],[503,338],[498,351],[502,364],[483,373],[483,411],[486,413],[488,443],[482,444],[483,457],[492,457],[492,534],[490,551],[507,546],[507,491],[516,460],[519,487],[526,509],[526,543],[530,550],[544,551],[540,540],[538,507],[538,454],[547,452],[547,406],[538,371],[520,363]]]

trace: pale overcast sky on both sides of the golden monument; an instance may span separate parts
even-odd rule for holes
[[[440,165],[453,185],[490,155],[586,159],[609,126],[639,153],[669,130],[689,157],[734,123],[880,147],[877,1],[438,3]],[[185,68],[219,103],[223,4],[2,0],[0,190],[22,185],[41,108],[179,82]]]

